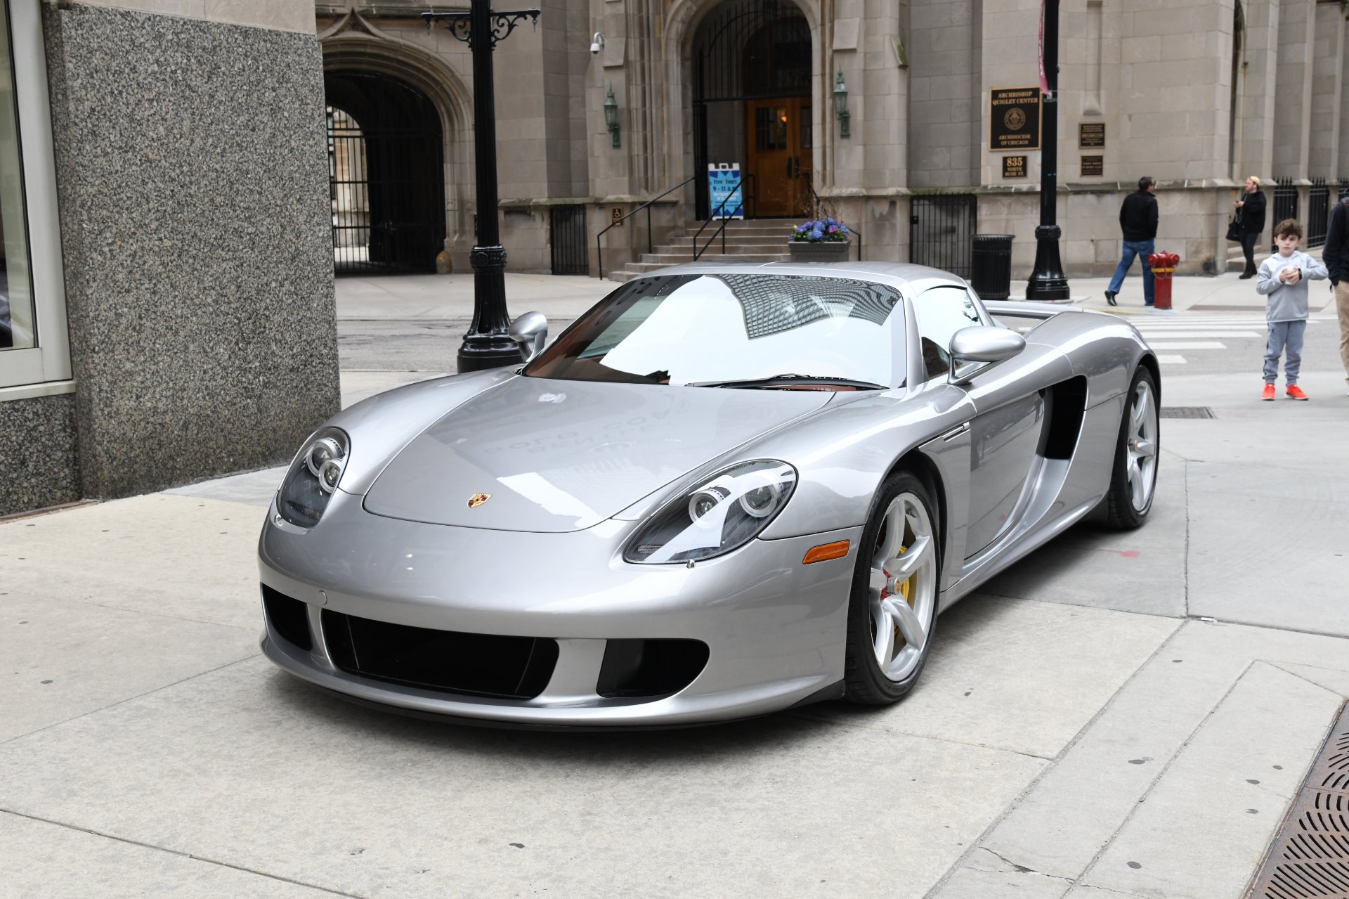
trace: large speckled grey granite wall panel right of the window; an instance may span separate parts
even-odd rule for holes
[[[317,39],[43,16],[81,494],[287,459],[339,408]]]

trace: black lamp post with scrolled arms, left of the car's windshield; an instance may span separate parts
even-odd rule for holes
[[[473,54],[473,163],[478,174],[478,240],[468,263],[473,267],[473,321],[459,347],[459,370],[479,371],[519,362],[519,344],[507,329],[506,248],[496,225],[496,99],[492,90],[492,50],[522,20],[538,22],[538,9],[492,12],[491,0],[471,0],[468,12],[424,12],[430,28],[444,22]],[[475,39],[476,38],[476,39]]]

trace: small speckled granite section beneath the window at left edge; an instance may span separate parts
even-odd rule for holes
[[[76,398],[0,402],[0,516],[80,498]]]

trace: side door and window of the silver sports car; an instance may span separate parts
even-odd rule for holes
[[[924,290],[913,301],[925,377],[946,381],[951,337],[960,328],[986,324],[969,292],[956,286]],[[969,513],[965,556],[989,547],[1010,524],[1036,460],[1045,404],[1013,373],[1016,359],[990,366],[960,386],[971,401]],[[1047,386],[1047,385],[1045,385]]]

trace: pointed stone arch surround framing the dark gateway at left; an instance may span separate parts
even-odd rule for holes
[[[324,73],[370,73],[391,77],[414,88],[434,105],[442,135],[445,250],[455,265],[467,265],[472,246],[469,211],[472,184],[472,92],[437,57],[405,40],[387,36],[348,13],[318,35]]]

